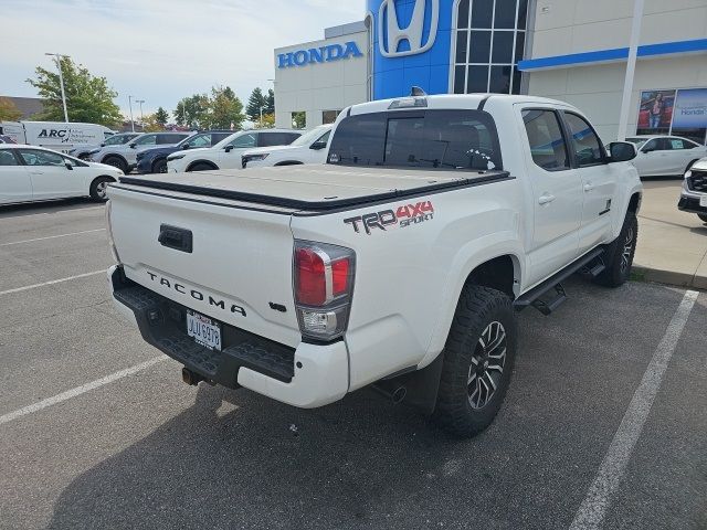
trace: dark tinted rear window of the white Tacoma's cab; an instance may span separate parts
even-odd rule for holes
[[[481,110],[412,110],[349,116],[329,163],[485,171],[503,169],[496,126]]]

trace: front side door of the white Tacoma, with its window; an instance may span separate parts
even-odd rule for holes
[[[606,152],[590,123],[579,114],[563,112],[569,138],[572,167],[582,181],[582,222],[579,233],[579,253],[604,242],[611,232],[612,200],[621,171],[608,163]]]

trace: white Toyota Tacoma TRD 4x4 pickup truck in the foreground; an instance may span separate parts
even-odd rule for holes
[[[515,312],[551,312],[576,272],[629,277],[642,188],[634,146],[609,151],[550,99],[355,105],[326,165],[112,184],[110,289],[188,383],[299,407],[372,384],[471,436],[508,388]]]

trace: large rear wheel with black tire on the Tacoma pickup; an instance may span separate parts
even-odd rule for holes
[[[498,332],[503,333],[499,342]],[[507,295],[476,285],[464,287],[442,353],[433,413],[444,431],[471,437],[490,425],[510,383],[517,336],[516,316]]]

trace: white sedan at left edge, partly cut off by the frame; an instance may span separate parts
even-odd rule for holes
[[[68,197],[106,200],[106,188],[123,171],[85,162],[42,147],[0,145],[0,204]]]

